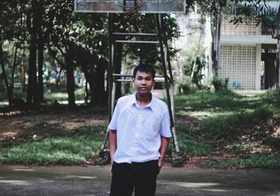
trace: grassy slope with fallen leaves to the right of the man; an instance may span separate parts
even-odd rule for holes
[[[204,167],[280,167],[279,92],[255,97],[198,91],[176,97],[179,146]]]

